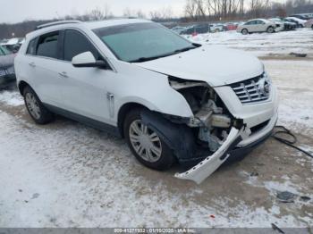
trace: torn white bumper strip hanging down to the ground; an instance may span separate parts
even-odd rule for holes
[[[176,173],[175,177],[182,180],[192,180],[197,184],[202,183],[216,171],[230,156],[227,152],[237,146],[241,140],[248,138],[249,132],[243,127],[241,130],[232,128],[224,144],[201,163],[183,173]]]

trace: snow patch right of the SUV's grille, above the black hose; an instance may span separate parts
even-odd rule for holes
[[[279,124],[313,136],[313,62],[264,63],[279,91]]]

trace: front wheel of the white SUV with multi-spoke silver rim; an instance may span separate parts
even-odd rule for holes
[[[135,109],[127,114],[124,121],[124,136],[131,153],[148,168],[165,171],[174,163],[172,150],[141,121],[141,109]]]

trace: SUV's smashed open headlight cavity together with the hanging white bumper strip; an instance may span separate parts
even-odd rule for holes
[[[169,77],[170,86],[185,97],[193,117],[184,121],[194,132],[199,146],[205,146],[210,154],[189,171],[176,173],[175,177],[201,183],[228,158],[229,150],[250,135],[243,124],[225,107],[215,90],[206,82]]]

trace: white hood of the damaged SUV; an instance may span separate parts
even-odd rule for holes
[[[219,46],[200,46],[190,51],[136,65],[180,79],[224,86],[259,76],[264,71],[258,58]]]

